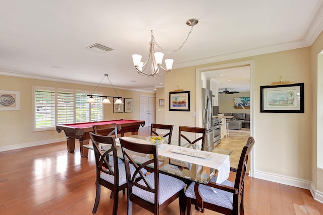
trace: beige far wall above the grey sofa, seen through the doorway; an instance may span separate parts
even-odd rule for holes
[[[235,94],[219,94],[219,113],[250,113],[250,109],[235,109],[235,97],[250,97],[250,92],[240,92]]]

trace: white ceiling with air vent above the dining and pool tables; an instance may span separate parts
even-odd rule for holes
[[[323,29],[322,2],[2,0],[0,75],[95,86],[108,74],[115,87],[153,90],[164,78],[137,75],[131,57],[146,58],[150,30],[174,50],[190,30],[186,21],[198,19],[183,48],[165,54],[174,68],[198,65],[311,45]],[[114,50],[86,48],[96,42]]]

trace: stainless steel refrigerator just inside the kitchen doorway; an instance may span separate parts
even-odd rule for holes
[[[206,128],[205,151],[211,151],[213,147],[212,112],[212,91],[202,88],[202,123]]]

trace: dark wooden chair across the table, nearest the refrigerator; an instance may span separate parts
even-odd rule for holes
[[[199,133],[202,136],[198,138],[188,137],[191,133]],[[184,138],[189,144],[196,144],[199,141],[201,142],[201,150],[204,149],[204,142],[205,142],[205,133],[206,128],[199,128],[199,127],[188,127],[188,126],[179,126],[178,132],[178,146],[181,146],[181,140]]]

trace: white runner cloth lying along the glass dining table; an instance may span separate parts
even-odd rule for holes
[[[149,141],[144,140],[144,139],[136,139],[133,137],[121,137],[121,138],[124,138],[128,141],[133,140],[134,142],[139,142],[141,144],[149,144]],[[121,146],[119,138],[116,139],[116,144],[117,144],[117,146]],[[189,163],[217,169],[219,171],[218,177],[217,177],[217,183],[222,183],[229,178],[229,174],[230,174],[230,157],[229,157],[229,155],[207,152],[207,153],[211,154],[210,158],[198,158],[198,157],[193,157],[193,156],[189,156],[189,155],[183,155],[183,154],[171,152],[172,149],[179,149],[179,148],[183,149],[183,147],[179,147],[179,146],[162,144],[160,147],[157,148],[158,155],[168,157],[168,158],[173,158],[173,159],[183,161],[183,162],[189,162]],[[185,148],[185,149],[187,149],[187,148]],[[200,150],[190,149],[190,151],[191,150],[196,151],[196,152],[201,152]]]

